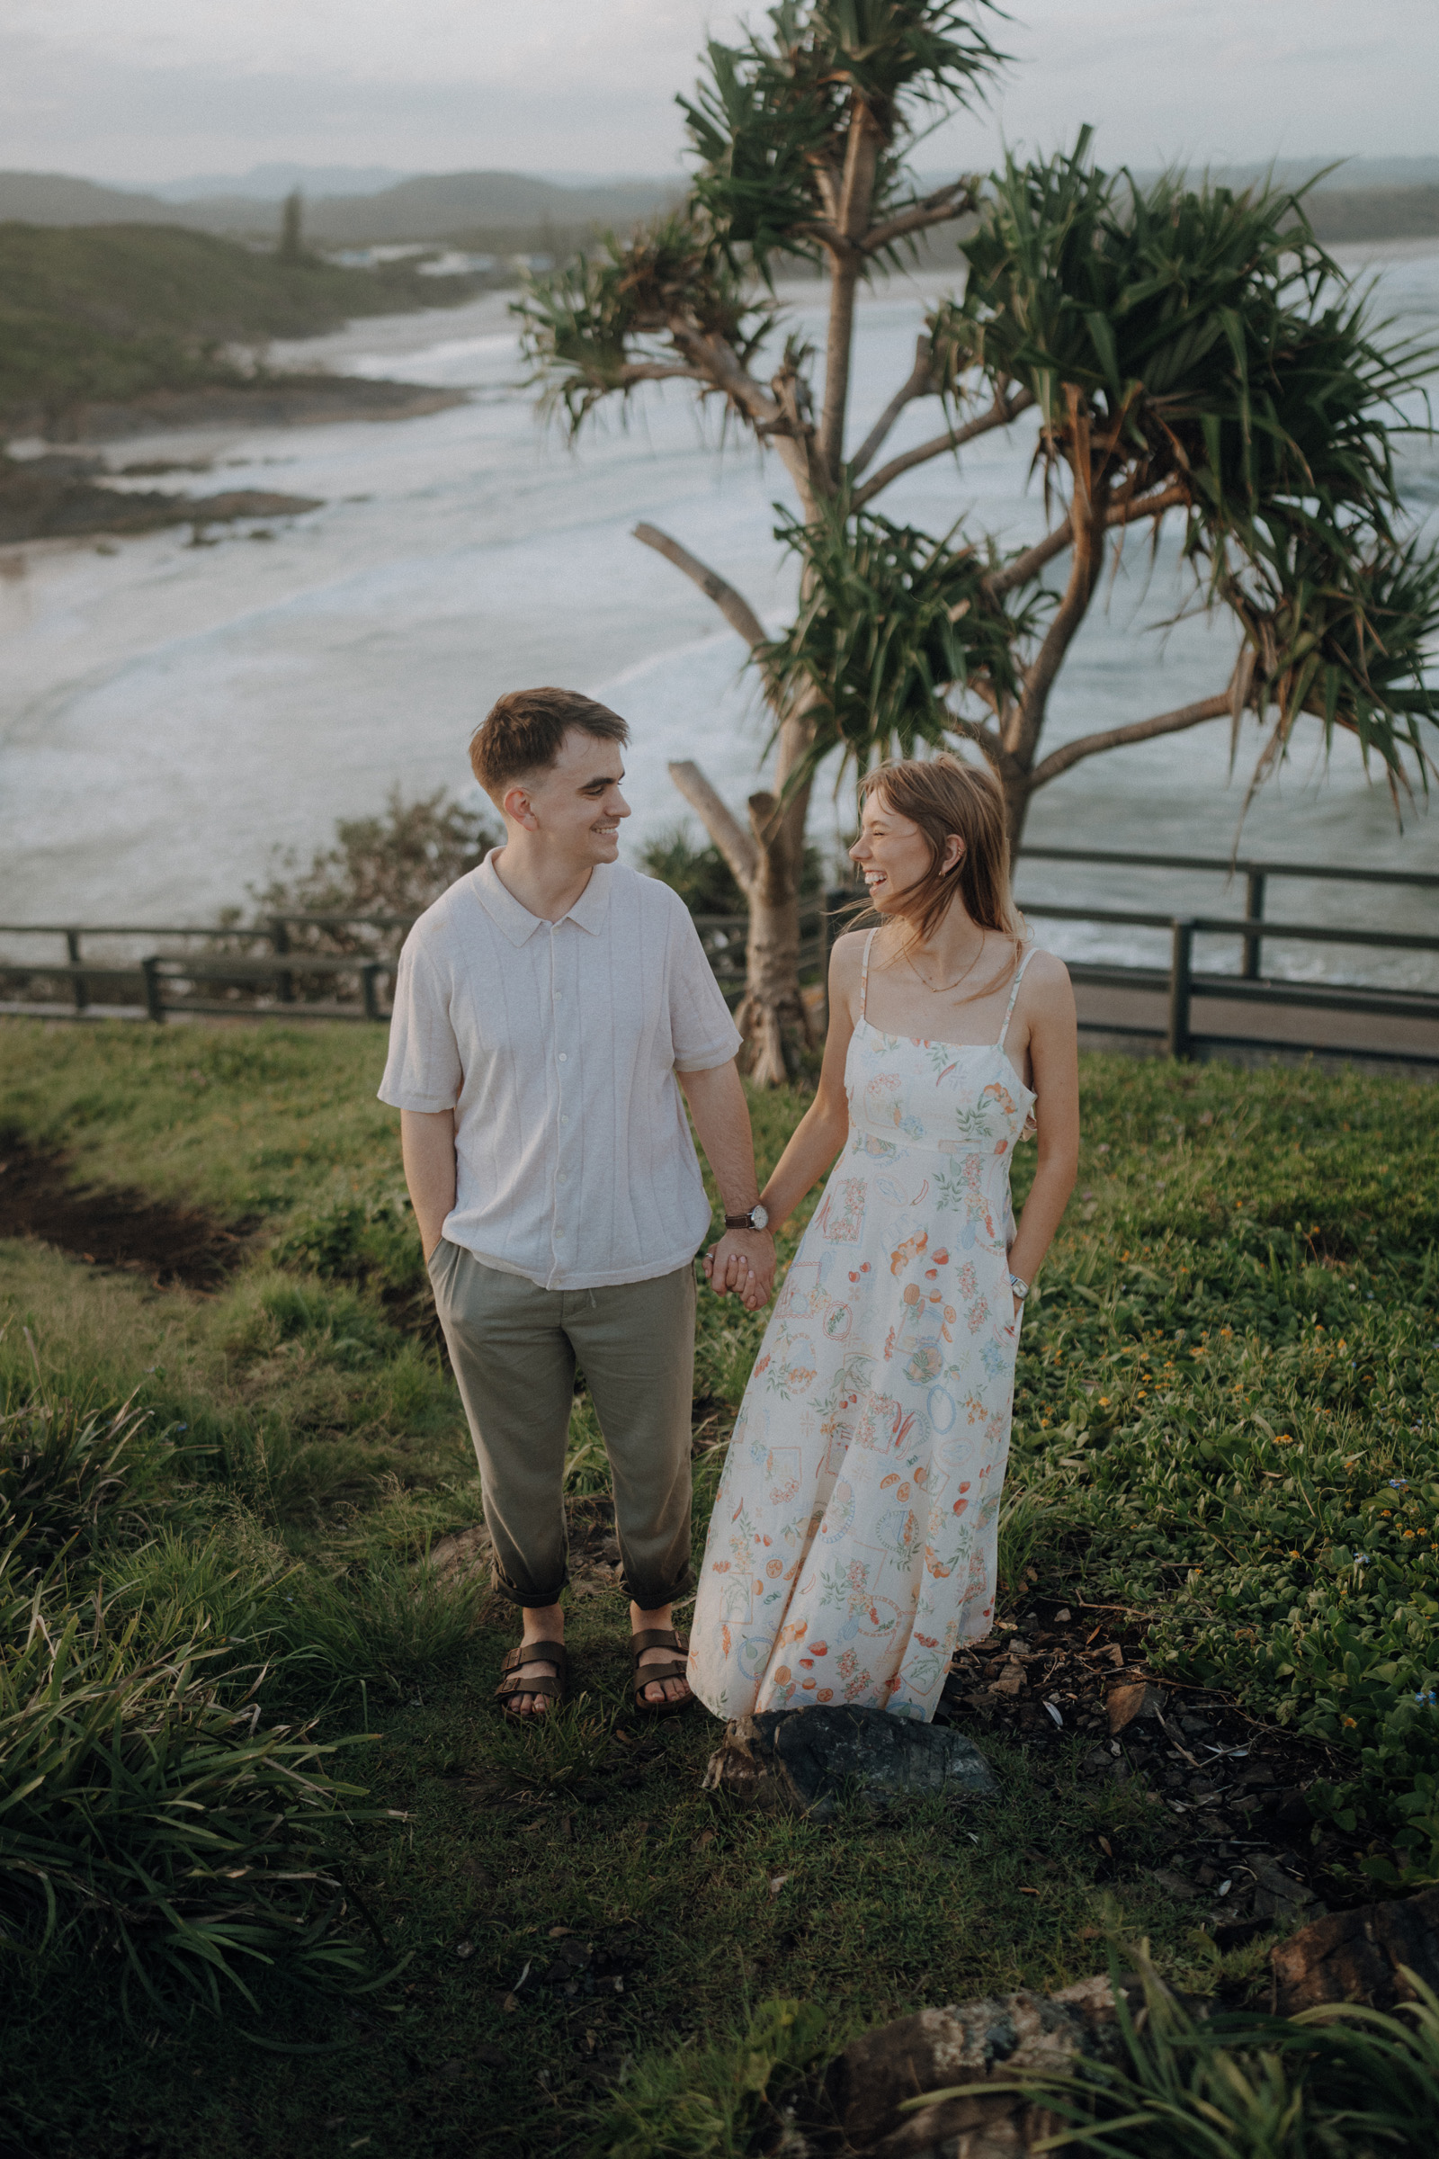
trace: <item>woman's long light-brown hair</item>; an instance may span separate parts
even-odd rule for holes
[[[986,764],[960,764],[947,753],[938,758],[904,758],[876,764],[859,784],[861,801],[880,795],[895,816],[919,827],[930,868],[906,892],[895,909],[917,937],[930,937],[956,896],[964,900],[971,922],[986,931],[1003,931],[1016,948],[1025,941],[1025,918],[1010,892],[1010,831],[999,782]],[[964,853],[956,868],[945,870],[945,842],[956,836]]]

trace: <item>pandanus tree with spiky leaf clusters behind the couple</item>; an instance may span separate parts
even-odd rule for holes
[[[1094,168],[1087,130],[1068,155],[919,190],[904,162],[919,130],[979,97],[999,63],[984,19],[984,0],[785,0],[766,32],[710,43],[680,99],[695,147],[682,209],[520,302],[535,378],[572,432],[641,384],[690,382],[779,456],[798,499],[779,510],[800,572],[779,637],[688,546],[636,529],[746,641],[772,710],[772,786],[744,823],[697,764],[671,766],[749,902],[738,1017],[768,1084],[807,1030],[798,872],[831,751],[867,769],[969,745],[1018,840],[1036,790],[1081,758],[1215,717],[1234,745],[1245,715],[1260,719],[1256,777],[1312,715],[1329,738],[1357,734],[1396,790],[1424,782],[1422,723],[1439,719],[1424,680],[1439,568],[1402,531],[1392,466],[1430,356],[1370,322],[1290,192],[1139,188]],[[908,376],[850,445],[859,289],[958,218],[964,289],[928,311]],[[796,257],[828,283],[822,356],[781,337],[775,270]],[[921,399],[936,432],[882,456]],[[1036,544],[971,533],[958,486],[943,535],[874,507],[904,473],[1016,423],[1051,510]],[[1167,518],[1193,605],[1236,624],[1230,678],[1044,753],[1107,563]]]

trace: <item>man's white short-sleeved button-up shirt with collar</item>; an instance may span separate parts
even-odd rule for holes
[[[542,1289],[645,1282],[710,1226],[675,1073],[738,1047],[669,885],[602,864],[542,922],[485,857],[406,937],[380,1101],[455,1110],[451,1244]]]

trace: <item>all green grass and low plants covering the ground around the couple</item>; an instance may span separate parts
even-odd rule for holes
[[[820,1829],[703,1794],[718,1727],[626,1708],[583,1393],[585,1699],[544,1734],[494,1719],[511,1615],[382,1056],[347,1028],[0,1026],[4,2135],[658,2159],[690,2122],[721,2155],[768,2144],[770,2094],[854,2029],[1066,1984],[1107,1939],[1260,2001],[1288,1922],[1225,1932],[1169,1764],[1094,1775],[1083,1703],[977,1732],[995,1809]],[[1435,1880],[1430,1090],[1100,1056],[1083,1090],[1020,1343],[1001,1639],[1064,1611],[1083,1654],[1124,1641],[1180,1706],[1234,1703],[1297,1788],[1256,1785],[1247,1835],[1277,1809],[1325,1902]],[[762,1170],[803,1105],[753,1095]],[[697,1537],[759,1332],[701,1304]]]

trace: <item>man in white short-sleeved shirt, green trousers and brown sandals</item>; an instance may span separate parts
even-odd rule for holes
[[[509,1716],[565,1690],[563,1462],[576,1360],[615,1479],[634,1701],[684,1708],[695,1250],[710,1224],[680,1092],[725,1203],[714,1282],[757,1311],[775,1244],[740,1036],[680,898],[619,864],[623,719],[511,691],[470,743],[505,846],[410,931],[380,1099],[470,1421],[522,1641]]]

